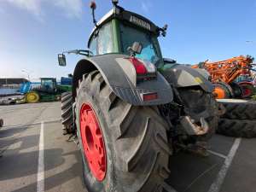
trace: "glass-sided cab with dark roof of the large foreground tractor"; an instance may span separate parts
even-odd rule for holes
[[[132,45],[138,43],[142,46],[140,52],[135,55],[138,59],[150,61],[156,66],[162,63],[162,55],[158,37],[166,36],[166,28],[155,26],[154,23],[142,15],[127,11],[113,3],[107,15],[96,22],[94,10],[96,4],[90,8],[93,12],[95,27],[90,34],[88,48],[93,55],[105,54],[132,54]]]

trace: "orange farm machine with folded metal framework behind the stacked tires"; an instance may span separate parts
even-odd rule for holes
[[[204,61],[193,68],[204,68],[210,73],[212,83],[215,85],[213,94],[218,99],[243,97],[253,95],[253,83],[243,81],[236,83],[235,79],[239,76],[251,77],[253,70],[252,56],[236,56],[224,61],[209,62]]]

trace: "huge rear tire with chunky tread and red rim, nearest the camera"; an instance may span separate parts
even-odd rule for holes
[[[84,108],[87,108],[85,116],[90,113],[95,117],[92,118],[94,123],[84,120]],[[155,110],[131,106],[120,100],[98,71],[84,75],[79,81],[76,125],[84,165],[84,183],[90,192],[162,191],[169,174],[170,148],[166,122]],[[84,138],[84,131],[90,126],[91,130],[99,127],[97,130],[100,131],[96,131],[97,134],[87,131],[88,137]],[[103,143],[101,155],[106,159],[98,164],[103,167],[101,171],[98,165],[94,165],[90,151],[96,153],[95,156],[100,154],[95,148],[86,148],[100,137]],[[87,149],[89,151],[86,152]]]

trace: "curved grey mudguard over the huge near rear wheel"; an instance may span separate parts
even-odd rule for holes
[[[134,106],[172,102],[171,85],[160,73],[157,73],[156,79],[137,82],[135,68],[125,58],[127,55],[108,54],[87,57],[79,61],[73,73],[73,97],[76,95],[75,90],[83,74],[97,69],[115,95]],[[143,101],[143,95],[149,93],[157,93],[158,98],[148,102]]]

